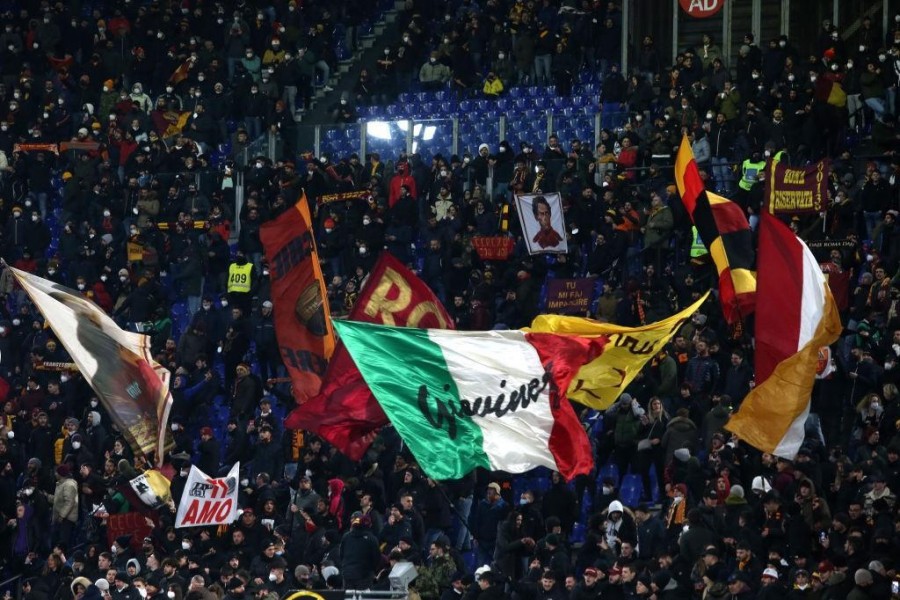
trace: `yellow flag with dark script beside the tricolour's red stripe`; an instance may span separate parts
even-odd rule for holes
[[[622,327],[580,317],[538,315],[530,331],[606,337],[603,354],[579,369],[569,384],[569,398],[598,410],[612,406],[644,365],[668,343],[706,301],[709,292],[681,312],[641,327]]]

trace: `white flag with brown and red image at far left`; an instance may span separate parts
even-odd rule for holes
[[[153,360],[150,338],[123,331],[75,290],[7,268],[44,315],[132,450],[146,455],[155,452],[162,463],[172,407],[170,374]]]

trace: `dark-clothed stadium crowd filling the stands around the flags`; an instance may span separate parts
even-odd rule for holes
[[[823,23],[808,48],[787,36],[760,47],[747,34],[734,65],[708,35],[665,64],[647,36],[623,73],[615,2],[410,0],[401,41],[352,102],[412,87],[566,94],[590,71],[603,78],[598,110],[619,107],[627,120],[594,148],[510,132],[471,156],[435,149],[430,163],[402,149],[314,156],[296,144],[296,111],[327,86],[336,47],[356,47],[372,4],[0,3],[3,256],[149,333],[174,374],[176,445],[174,504],[150,510],[128,486],[145,457],[77,371],[46,367],[70,359],[4,271],[0,560],[10,585],[29,599],[280,598],[387,589],[392,566],[411,562],[426,600],[900,597],[900,16],[886,32],[867,17],[852,35]],[[284,154],[244,161],[265,131]],[[846,329],[795,460],[723,427],[754,385],[753,328],[727,326],[715,299],[605,413],[576,405],[597,468],[574,483],[483,470],[436,482],[391,427],[359,462],[284,429],[293,400],[259,228],[301,192],[336,316],[387,250],[458,329],[529,324],[542,285],[560,277],[596,279],[590,316],[640,325],[715,285],[673,185],[682,134],[708,188],[751,224],[766,159],[832,160],[832,207],[791,226],[840,241],[821,260]],[[215,165],[210,155],[226,147]],[[354,190],[367,199],[317,202]],[[560,192],[567,254],[529,256],[514,205],[501,224],[510,195],[535,190]],[[481,261],[471,237],[495,234],[516,239],[513,256]],[[234,270],[252,285],[229,287]],[[237,461],[239,519],[174,529],[189,465],[214,474]],[[110,543],[110,521],[128,513],[136,525]]]

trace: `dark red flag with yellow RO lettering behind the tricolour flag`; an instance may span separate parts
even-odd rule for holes
[[[348,318],[401,327],[454,328],[434,292],[388,252],[382,252],[372,267]],[[351,460],[359,460],[387,422],[347,349],[338,342],[321,392],[295,408],[284,424],[313,431]]]

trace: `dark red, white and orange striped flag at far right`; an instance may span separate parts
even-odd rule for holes
[[[759,225],[756,382],[726,425],[751,446],[793,459],[804,437],[819,350],[841,333],[831,290],[806,244],[767,212]]]

